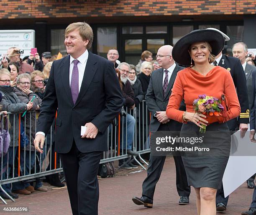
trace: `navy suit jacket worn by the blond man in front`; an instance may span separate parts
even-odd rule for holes
[[[69,152],[73,140],[81,152],[107,151],[106,129],[123,105],[113,63],[89,51],[82,86],[73,104],[69,86],[69,61],[70,56],[66,56],[54,61],[51,66],[37,131],[47,133],[58,109],[56,152]],[[81,138],[81,125],[89,122],[99,129],[95,139]]]

